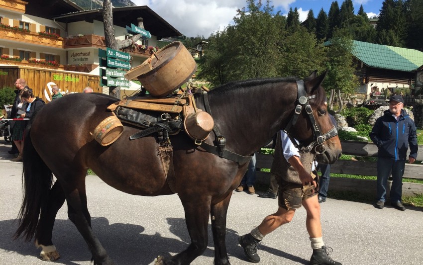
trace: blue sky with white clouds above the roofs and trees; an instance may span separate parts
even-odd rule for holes
[[[343,0],[338,0],[339,7]],[[363,4],[367,16],[379,14],[383,0],[352,0],[354,12],[357,13]],[[147,5],[163,19],[174,26],[179,32],[188,36],[198,35],[209,37],[218,29],[232,23],[236,9],[246,6],[245,0],[132,0],[136,5]],[[263,0],[265,2],[265,0]],[[300,20],[307,17],[310,9],[315,16],[321,8],[329,11],[332,0],[273,0],[275,11],[281,10],[287,14],[289,8],[298,8]]]

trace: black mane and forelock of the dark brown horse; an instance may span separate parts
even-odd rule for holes
[[[258,87],[258,86],[263,86],[264,84],[272,84],[272,83],[295,82],[297,80],[300,80],[300,79],[297,77],[249,79],[249,80],[231,82],[231,83],[222,85],[220,87],[212,89],[209,93],[210,94],[227,94],[232,91],[236,91],[243,88]],[[307,81],[308,78],[306,78],[305,80]],[[313,107],[319,107],[323,105],[324,102],[327,101],[326,92],[321,86],[317,89],[317,91],[318,91],[317,97],[309,101]]]

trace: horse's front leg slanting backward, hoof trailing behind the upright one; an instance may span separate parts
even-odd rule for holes
[[[160,264],[164,265],[189,265],[207,249],[209,236],[210,197],[179,196],[185,210],[185,222],[190,234],[191,244],[183,252],[175,255],[170,260],[163,259]]]

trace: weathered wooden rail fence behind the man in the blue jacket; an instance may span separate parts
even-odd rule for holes
[[[373,143],[359,141],[341,141],[342,153],[359,157],[377,157],[377,146]],[[409,150],[410,153],[410,150]],[[270,173],[261,172],[260,169],[270,169],[273,156],[256,154],[256,182],[269,184]],[[423,146],[419,145],[417,161],[423,161]],[[338,160],[330,166],[330,173],[376,176],[376,162]],[[423,179],[423,164],[415,162],[406,164],[404,177]],[[391,181],[388,183],[388,195],[391,188]],[[356,179],[347,177],[331,177],[329,182],[331,191],[353,191],[362,194],[376,194],[376,180]],[[415,196],[423,193],[423,184],[403,182],[403,195]]]

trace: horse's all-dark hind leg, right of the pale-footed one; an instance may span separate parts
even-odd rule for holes
[[[68,178],[69,180],[69,178]],[[68,203],[68,217],[75,224],[88,248],[93,255],[94,265],[112,265],[110,257],[101,245],[99,239],[91,229],[91,216],[87,208],[87,194],[85,192],[85,172],[83,176],[73,178],[73,183],[66,183],[66,201]]]

